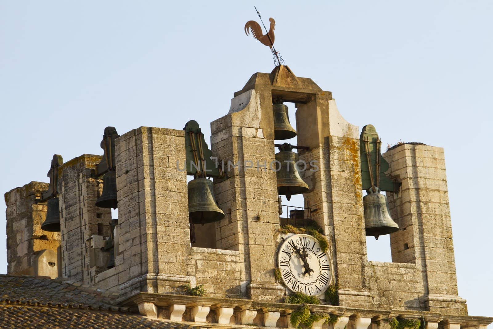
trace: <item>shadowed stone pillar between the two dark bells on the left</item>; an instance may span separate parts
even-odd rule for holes
[[[93,175],[100,161],[99,155],[83,154],[58,169],[62,275],[86,284],[106,270],[106,264],[91,266],[91,238],[110,235],[111,210],[95,205],[103,189],[102,179]]]

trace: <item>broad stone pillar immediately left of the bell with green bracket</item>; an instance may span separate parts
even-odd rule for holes
[[[141,127],[116,139],[118,250],[113,278],[122,293],[175,292],[195,282],[183,130]],[[103,285],[103,286],[105,286]]]

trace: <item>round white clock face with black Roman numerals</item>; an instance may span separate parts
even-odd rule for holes
[[[292,292],[318,295],[332,281],[332,262],[318,240],[308,234],[291,235],[282,243],[278,254],[282,281]]]

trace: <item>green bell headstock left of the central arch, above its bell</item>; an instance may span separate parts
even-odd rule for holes
[[[185,124],[186,174],[195,177],[222,178],[224,172],[218,165],[219,160],[212,158],[212,152],[204,139],[199,124],[190,120]]]

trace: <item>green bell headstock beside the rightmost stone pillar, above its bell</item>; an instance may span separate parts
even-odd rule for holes
[[[385,174],[388,170],[388,162],[380,153],[382,142],[373,125],[368,124],[363,127],[361,135],[359,136],[359,144],[361,152],[362,189],[367,190],[369,188],[379,187],[385,192],[397,190],[396,183]],[[372,162],[370,166],[368,158],[370,159],[370,162]]]

